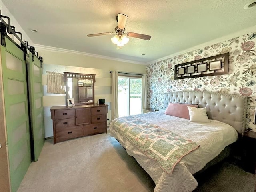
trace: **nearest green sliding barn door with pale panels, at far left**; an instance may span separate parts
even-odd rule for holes
[[[31,163],[26,64],[8,38],[1,45],[11,190],[16,192]]]

